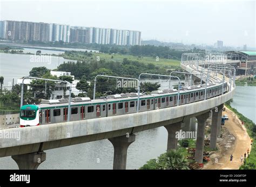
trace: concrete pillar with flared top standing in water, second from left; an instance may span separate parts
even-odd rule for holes
[[[126,169],[127,149],[135,141],[135,135],[118,136],[110,138],[109,141],[114,147],[113,169]]]

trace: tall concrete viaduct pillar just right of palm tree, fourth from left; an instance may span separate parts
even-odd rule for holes
[[[204,141],[205,141],[205,123],[210,113],[204,113],[197,116],[197,145],[194,160],[198,163],[203,163]]]

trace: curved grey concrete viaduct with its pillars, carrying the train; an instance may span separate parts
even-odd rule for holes
[[[188,72],[193,68],[181,64]],[[200,77],[200,75],[198,75]],[[214,79],[212,77],[212,79]],[[217,78],[219,79],[219,78]],[[124,114],[121,116],[103,117],[81,121],[70,121],[25,128],[10,128],[0,130],[1,133],[18,132],[21,140],[2,139],[0,142],[0,157],[12,156],[20,169],[36,169],[38,158],[44,161],[43,150],[76,145],[78,143],[109,139],[114,147],[113,169],[126,168],[127,148],[135,141],[133,133],[165,126],[168,132],[167,150],[177,148],[174,133],[182,128],[185,119],[196,117],[198,120],[196,161],[203,162],[203,139],[206,119],[213,113],[213,120],[220,121],[220,110],[227,100],[234,95],[234,89],[224,95],[213,97],[200,102],[169,107],[165,109]],[[216,111],[216,109],[218,109]],[[216,146],[217,136],[220,134],[220,123],[213,126],[211,134]],[[187,130],[190,130],[189,128]],[[25,163],[25,164],[24,164]],[[41,162],[40,162],[41,163]]]

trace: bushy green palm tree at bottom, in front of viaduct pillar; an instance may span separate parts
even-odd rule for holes
[[[184,170],[188,168],[188,161],[179,150],[170,150],[160,155],[157,169]]]

